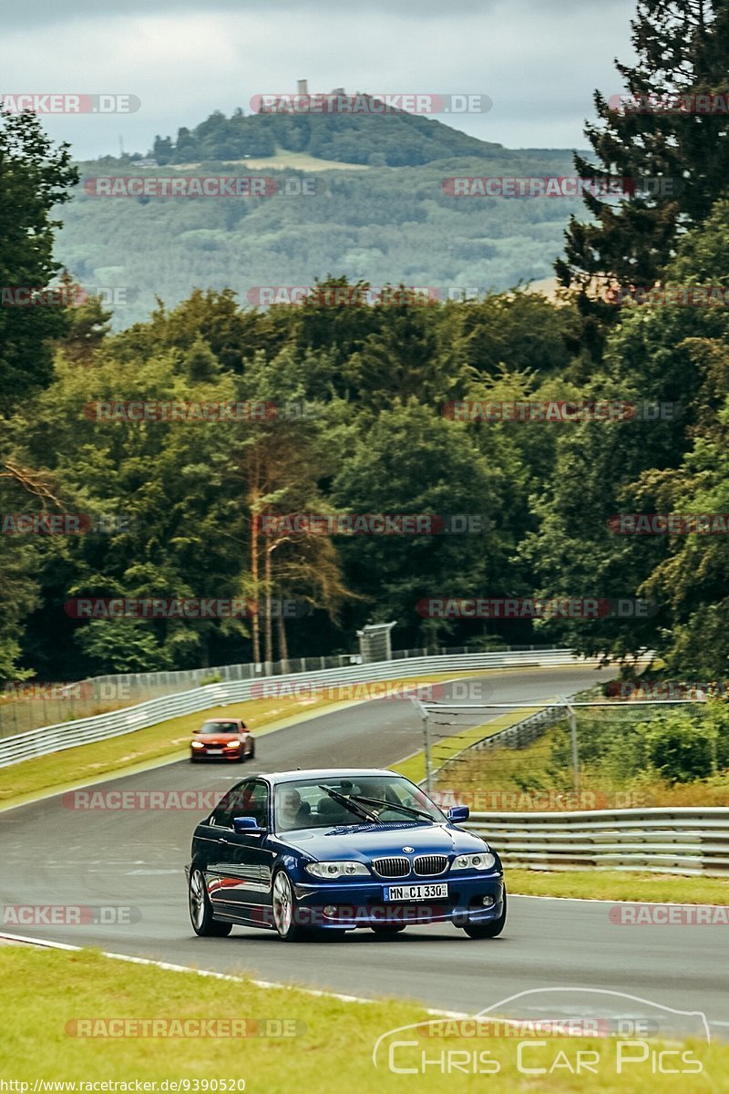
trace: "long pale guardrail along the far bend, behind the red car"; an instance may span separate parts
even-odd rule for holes
[[[222,684],[208,684],[190,691],[177,695],[166,695],[158,699],[149,699],[134,707],[110,711],[108,714],[96,714],[93,718],[81,718],[73,722],[60,722],[57,725],[46,725],[39,730],[31,730],[16,736],[0,740],[0,767],[9,767],[21,760],[35,756],[47,756],[49,753],[64,748],[77,748],[79,745],[94,741],[106,741],[108,737],[133,733],[156,725],[169,718],[180,714],[192,714],[196,711],[208,710],[211,707],[226,706],[232,702],[243,702],[260,694],[262,684],[291,683],[294,687],[303,684],[356,684],[373,680],[387,680],[416,677],[432,673],[459,673],[482,668],[532,668],[560,667],[566,665],[597,666],[599,657],[578,657],[572,650],[538,650],[504,653],[459,653],[439,654],[434,656],[408,657],[407,660],[379,661],[371,664],[346,665],[341,668],[325,668],[320,672],[291,673],[286,676],[263,676],[247,680],[225,680]]]

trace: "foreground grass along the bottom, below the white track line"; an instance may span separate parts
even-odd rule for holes
[[[473,943],[474,954],[483,954],[487,945]],[[202,956],[204,942],[200,943],[200,950]],[[292,956],[295,952],[292,950]],[[322,959],[328,952],[328,946],[322,945]],[[484,1005],[492,994],[484,989]],[[615,1039],[558,1037],[528,1046],[525,1061],[528,1067],[549,1069],[555,1059],[558,1060],[552,1074],[534,1076],[517,1069],[518,1041],[513,1037],[442,1039],[421,1034],[414,1049],[397,1049],[396,1067],[420,1062],[421,1052],[434,1059],[443,1052],[460,1050],[468,1054],[469,1059],[477,1054],[477,1061],[478,1054],[487,1052],[491,1069],[497,1067],[498,1070],[493,1074],[463,1073],[461,1056],[460,1071],[443,1073],[438,1067],[431,1066],[425,1068],[425,1074],[395,1074],[388,1068],[387,1054],[387,1046],[395,1038],[389,1038],[380,1050],[377,1068],[372,1059],[373,1048],[388,1031],[431,1021],[415,1003],[385,1000],[352,1003],[316,998],[293,988],[264,989],[249,981],[221,981],[131,965],[87,950],[70,953],[24,946],[0,947],[0,1017],[3,1028],[0,1073],[5,1080],[30,1083],[30,1091],[35,1080],[77,1083],[139,1080],[157,1084],[165,1080],[188,1080],[188,1089],[192,1092],[221,1091],[220,1085],[213,1085],[215,1080],[219,1083],[220,1080],[245,1080],[246,1094],[291,1094],[292,1091],[442,1094],[446,1090],[449,1094],[484,1090],[491,1094],[551,1091],[588,1094],[592,1091],[596,1094],[644,1091],[705,1094],[710,1091],[716,1094],[729,1091],[729,1046],[708,1046],[695,1039],[680,1048],[691,1052],[692,1060],[701,1061],[702,1072],[697,1074],[654,1074],[650,1055],[644,1063],[633,1064],[623,1074],[618,1074],[619,1043]],[[102,1038],[69,1033],[68,1023],[74,1020],[104,1019],[248,1019],[259,1023],[281,1020],[296,1023],[292,1028],[297,1035],[285,1038]],[[74,1028],[79,1027],[70,1027]],[[423,1027],[423,1034],[426,1028]],[[412,1040],[419,1038],[419,1033],[407,1031],[398,1037]],[[650,1039],[651,1051],[660,1047]],[[598,1074],[571,1074],[565,1061],[574,1069],[579,1050],[598,1054]],[[635,1049],[632,1051],[635,1056]],[[677,1057],[671,1056],[670,1061],[675,1067]],[[157,1085],[157,1091],[163,1089]]]

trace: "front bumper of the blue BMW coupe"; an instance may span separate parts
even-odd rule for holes
[[[384,889],[399,880],[363,882],[294,882],[296,918],[302,926],[327,930],[352,930],[381,924],[418,926],[424,923],[489,923],[504,911],[504,875],[445,874],[418,877],[404,884],[448,885],[448,896],[433,900],[387,901]],[[493,901],[484,907],[484,898]]]

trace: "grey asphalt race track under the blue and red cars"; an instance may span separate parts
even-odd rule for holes
[[[609,675],[584,667],[524,670],[491,674],[486,687],[492,702],[537,701]],[[94,790],[222,793],[254,770],[386,767],[421,745],[413,705],[376,700],[261,736],[251,765],[174,763],[109,779]],[[610,905],[601,901],[513,896],[507,929],[490,942],[468,940],[445,926],[410,928],[390,939],[357,931],[341,941],[295,946],[244,928],[234,928],[228,939],[198,939],[188,919],[184,865],[199,819],[200,813],[181,810],[69,808],[61,795],[3,812],[0,930],[346,994],[404,997],[467,1013],[539,990],[502,1005],[499,1013],[510,1008],[517,1016],[652,1014],[648,1003],[624,998],[638,997],[674,1011],[704,1012],[714,1036],[729,1033],[729,927],[619,926],[609,918]],[[131,906],[136,921],[28,926],[13,923],[12,912],[8,921],[9,908],[28,905]],[[616,994],[588,996],[585,989]],[[697,1021],[670,1017],[672,1027],[686,1031],[694,1031]]]

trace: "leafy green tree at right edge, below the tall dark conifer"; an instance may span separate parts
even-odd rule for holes
[[[719,202],[684,236],[666,270],[669,286],[720,283],[726,219],[727,202]],[[619,535],[609,520],[621,512],[725,511],[716,507],[727,503],[718,411],[729,393],[728,337],[724,307],[625,307],[586,394],[635,404],[638,415],[562,427],[554,473],[534,500],[541,526],[527,538],[525,558],[543,586],[563,595],[648,596],[657,607],[643,619],[565,626],[563,637],[580,649],[628,656],[647,647],[673,667],[682,657],[686,667],[726,666],[712,607],[725,596],[724,537]],[[670,417],[651,418],[661,404]]]

